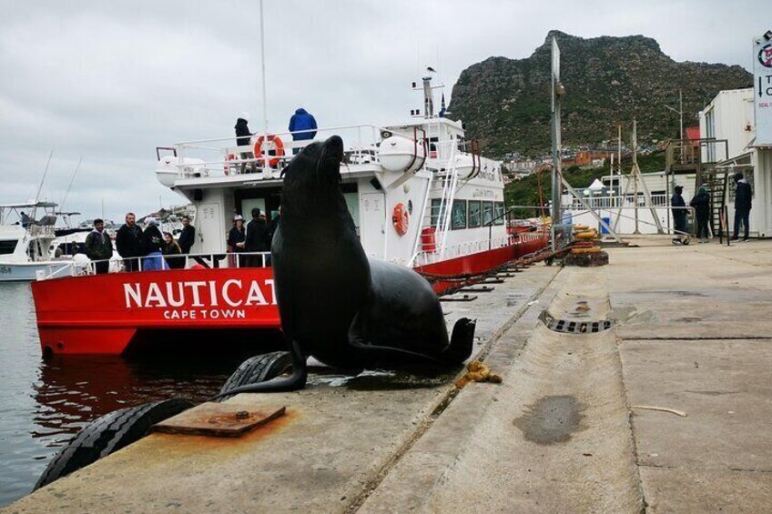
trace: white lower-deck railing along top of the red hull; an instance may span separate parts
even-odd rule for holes
[[[126,259],[119,257],[102,260],[91,260],[87,257],[78,259],[76,256],[69,262],[49,264],[45,270],[39,270],[37,279],[50,280],[61,277],[97,275],[97,268],[100,264],[107,264],[107,273],[220,267],[270,267],[270,252],[218,252],[168,256],[154,254],[146,257]]]

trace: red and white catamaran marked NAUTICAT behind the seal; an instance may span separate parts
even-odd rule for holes
[[[453,285],[443,277],[483,274],[549,241],[543,230],[507,230],[501,163],[479,156],[460,122],[433,113],[430,80],[419,87],[426,112],[411,121],[320,128],[315,139],[339,135],[347,146],[342,188],[368,256],[440,278],[433,287],[442,294]],[[197,211],[185,268],[76,276],[72,265],[37,280],[44,354],[121,354],[151,334],[163,345],[202,329],[228,329],[229,339],[243,331],[259,347],[255,331],[280,327],[271,269],[236,267],[227,233],[253,207],[277,216],[280,170],[311,141],[276,133],[249,146],[228,137],[157,148],[158,180]]]

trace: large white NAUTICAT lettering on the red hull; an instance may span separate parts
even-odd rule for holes
[[[218,284],[215,280],[185,282],[149,282],[124,284],[126,307],[251,307],[276,305],[273,279],[260,283],[230,278]],[[221,309],[226,312],[228,309]],[[204,316],[204,315],[201,315]],[[223,314],[222,317],[225,317]],[[187,317],[192,319],[192,317]]]

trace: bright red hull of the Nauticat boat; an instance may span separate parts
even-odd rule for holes
[[[547,244],[529,234],[495,248],[416,268],[440,276],[483,273]],[[442,293],[454,284],[438,282]],[[32,283],[44,354],[124,353],[157,330],[278,329],[270,268],[180,269],[66,277]],[[178,333],[179,336],[179,333]]]

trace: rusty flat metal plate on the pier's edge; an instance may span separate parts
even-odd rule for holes
[[[249,410],[225,403],[207,402],[150,428],[151,432],[238,438],[284,416],[286,407]]]

